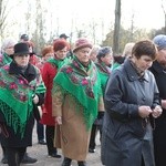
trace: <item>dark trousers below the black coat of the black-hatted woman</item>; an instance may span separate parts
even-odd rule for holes
[[[27,147],[6,147],[6,154],[8,156],[9,166],[20,166],[20,163],[24,156]]]

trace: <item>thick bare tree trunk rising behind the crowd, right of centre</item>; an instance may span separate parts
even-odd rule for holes
[[[121,0],[116,0],[115,4],[115,24],[114,24],[114,42],[113,50],[117,54],[120,50],[120,29],[121,29]]]

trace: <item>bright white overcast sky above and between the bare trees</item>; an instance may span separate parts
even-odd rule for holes
[[[19,22],[17,30],[19,33],[23,33],[25,32],[24,12],[28,10],[28,2],[27,0],[18,2],[17,0],[9,0],[10,6],[15,4],[10,11],[10,21]],[[29,0],[33,9],[35,9],[34,2],[34,0]],[[42,3],[44,8],[52,12],[52,18],[49,13],[46,15],[49,29],[51,29],[49,23],[52,22],[52,24],[54,23],[53,30],[56,31],[56,19],[59,18],[59,33],[65,32],[69,34],[71,32],[72,18],[77,19],[77,27],[82,23],[89,24],[92,19],[98,23],[103,21],[104,35],[114,24],[115,0],[42,0]],[[165,25],[162,0],[122,0],[122,24],[124,28],[131,27],[132,14],[134,14],[134,25],[137,28],[160,29]],[[33,29],[32,25],[31,29]],[[13,32],[12,29],[10,31]],[[102,35],[102,33],[98,35]]]

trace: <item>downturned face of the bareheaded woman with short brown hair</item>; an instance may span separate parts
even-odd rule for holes
[[[142,55],[139,59],[137,59],[135,55],[133,56],[133,60],[135,62],[135,65],[144,72],[153,64],[153,59],[148,55]]]

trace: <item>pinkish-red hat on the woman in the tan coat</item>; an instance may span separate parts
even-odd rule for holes
[[[87,39],[80,38],[79,40],[75,41],[73,52],[76,52],[77,50],[83,49],[83,48],[92,49],[92,44]]]

